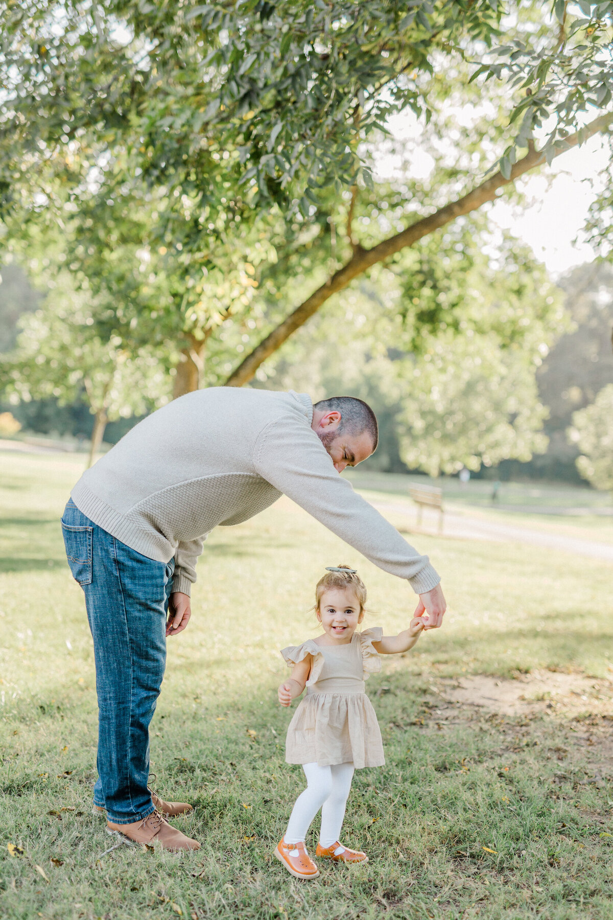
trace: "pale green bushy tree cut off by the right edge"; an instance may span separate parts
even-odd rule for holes
[[[613,491],[613,384],[603,387],[591,406],[573,413],[569,440],[583,453],[577,469],[596,489]]]

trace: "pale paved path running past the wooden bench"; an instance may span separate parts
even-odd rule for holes
[[[394,512],[406,514],[407,525],[414,528],[415,512],[410,504],[394,501],[372,501],[374,507],[382,514]],[[436,533],[437,516],[432,515],[432,532]],[[466,540],[496,540],[497,542],[528,543],[540,549],[562,549],[565,552],[606,559],[613,562],[613,544],[598,543],[596,540],[582,540],[575,536],[542,533],[529,527],[502,521],[486,521],[482,518],[456,512],[445,512],[445,529],[447,536],[463,537]]]

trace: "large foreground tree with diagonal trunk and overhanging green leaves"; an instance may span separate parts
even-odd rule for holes
[[[85,155],[97,170],[123,163],[119,172],[102,170],[105,201],[132,177],[165,191],[152,250],[175,247],[198,263],[214,248],[210,240],[232,253],[245,226],[278,251],[288,235],[319,233],[328,251],[324,277],[274,325],[256,323],[267,331],[262,341],[242,331],[255,348],[226,381],[241,385],[374,265],[607,130],[613,5],[582,0],[552,8],[553,19],[539,3],[491,0],[416,0],[408,11],[388,0],[68,8],[58,0],[34,3],[27,16],[11,7],[0,63],[9,87],[0,156],[12,174],[4,213],[28,199],[41,165],[70,186],[74,159]],[[496,49],[503,15],[505,44]],[[492,76],[506,77],[504,91],[486,82]],[[473,132],[460,132],[462,166],[446,169],[447,197],[438,190],[407,196],[403,225],[367,244],[353,218],[363,197],[376,207],[369,183],[377,132],[408,111],[426,119],[431,143],[449,145],[449,109],[458,102],[482,110]],[[587,105],[596,119],[584,127]],[[516,162],[517,149],[528,153]],[[497,161],[499,172],[474,182],[475,172]],[[82,185],[74,190],[77,207],[81,193]],[[267,237],[271,230],[277,236]],[[191,334],[200,343],[207,328]],[[201,363],[201,351],[196,357]]]

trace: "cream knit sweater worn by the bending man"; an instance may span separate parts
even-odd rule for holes
[[[246,521],[281,494],[414,592],[434,588],[428,558],[338,475],[311,423],[304,394],[223,386],[188,393],[132,428],[72,498],[143,556],[175,557],[174,590],[187,594],[213,527]]]

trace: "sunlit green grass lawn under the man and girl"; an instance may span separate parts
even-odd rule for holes
[[[90,814],[92,644],[58,525],[83,459],[1,462],[2,920],[613,918],[610,566],[416,538],[450,609],[443,629],[369,680],[387,764],[358,771],[344,828],[369,864],[324,864],[301,882],[271,857],[303,785],[284,762],[278,650],[317,635],[309,608],[325,565],[357,564],[366,626],[397,632],[414,596],[289,500],[219,528],[192,621],[169,641],[152,724],[153,785],[196,805],[176,825],[202,849],[106,852],[115,841]],[[517,685],[530,672],[576,674],[593,690],[544,693],[514,715],[448,701],[478,675]]]

